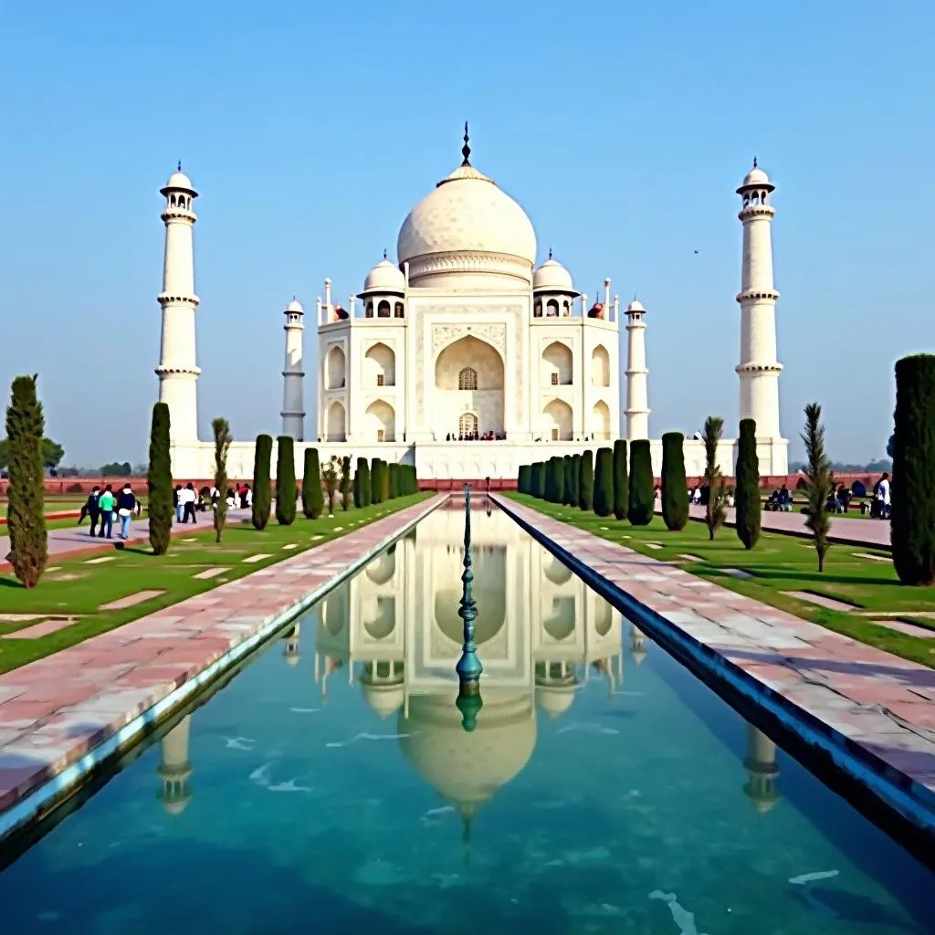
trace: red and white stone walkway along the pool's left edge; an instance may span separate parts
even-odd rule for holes
[[[3,813],[445,499],[369,525],[0,675]]]

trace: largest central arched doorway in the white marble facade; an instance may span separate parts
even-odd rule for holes
[[[456,439],[461,417],[468,413],[476,418],[480,436],[502,435],[503,390],[503,358],[492,345],[471,335],[453,341],[435,361],[431,405],[436,438]]]

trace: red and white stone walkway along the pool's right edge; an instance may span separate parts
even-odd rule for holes
[[[935,670],[491,496],[605,581],[712,650],[729,664],[728,670],[739,670],[759,688],[812,715],[845,748],[856,749],[935,813]]]

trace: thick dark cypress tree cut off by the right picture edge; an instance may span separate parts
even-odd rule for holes
[[[893,566],[903,584],[935,582],[935,356],[896,363]]]

